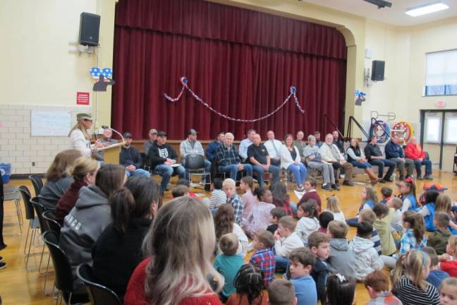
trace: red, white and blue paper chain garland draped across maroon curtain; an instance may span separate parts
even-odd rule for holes
[[[295,106],[298,108],[298,110],[302,114],[305,113],[305,110],[302,107],[300,107],[300,104],[298,103],[298,98],[297,98],[297,95],[296,95],[297,88],[295,88],[294,86],[291,86],[291,88],[289,89],[290,93],[289,93],[288,97],[286,97],[286,100],[284,100],[284,102],[278,108],[276,108],[273,112],[270,112],[269,114],[261,116],[260,118],[257,118],[257,119],[235,119],[235,118],[232,118],[231,116],[227,116],[226,114],[221,114],[221,112],[218,112],[216,109],[214,109],[211,106],[209,106],[209,104],[207,102],[204,102],[198,95],[196,95],[188,87],[188,78],[186,78],[185,76],[183,76],[181,78],[181,83],[183,84],[183,88],[181,88],[181,92],[179,92],[178,96],[173,98],[173,97],[170,97],[169,95],[167,95],[166,93],[164,93],[164,97],[166,98],[166,100],[169,100],[170,102],[177,102],[181,98],[181,96],[183,95],[184,90],[188,90],[193,95],[195,100],[197,100],[198,102],[201,102],[203,104],[203,106],[207,107],[209,110],[211,110],[215,114],[217,114],[219,116],[222,116],[224,119],[228,119],[228,120],[231,120],[231,121],[238,121],[238,122],[245,122],[245,123],[249,122],[249,123],[251,123],[251,122],[255,122],[255,121],[260,121],[262,119],[267,119],[269,116],[272,116],[273,114],[278,112],[279,109],[284,107],[284,105],[291,99],[291,97],[293,97],[293,99],[295,100]]]

